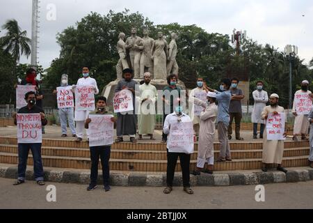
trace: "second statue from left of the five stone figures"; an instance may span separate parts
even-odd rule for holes
[[[131,68],[134,70],[134,78],[140,78],[140,61],[143,48],[143,39],[137,36],[136,28],[131,28],[131,36],[126,40],[125,49],[129,50]]]

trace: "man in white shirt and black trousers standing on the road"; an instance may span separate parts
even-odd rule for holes
[[[170,134],[171,125],[177,122],[191,122],[191,118],[183,113],[182,106],[177,106],[175,108],[175,112],[166,116],[166,120],[164,121],[163,126],[164,134],[167,135]],[[172,181],[174,180],[175,168],[177,164],[177,159],[179,157],[180,166],[182,167],[182,180],[184,191],[187,194],[193,194],[193,190],[191,190],[190,187],[190,170],[189,170],[191,154],[172,152],[172,147],[169,142],[166,148],[168,153],[168,167],[166,170],[167,187],[163,190],[163,193],[170,194],[170,192],[172,192]]]

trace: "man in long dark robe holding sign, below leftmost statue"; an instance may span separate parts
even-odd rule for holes
[[[135,110],[135,89],[137,82],[134,81],[133,70],[127,68],[123,70],[123,79],[118,82],[118,86],[116,86],[115,93],[118,93],[124,89],[131,91],[133,106]],[[118,113],[118,127],[116,128],[116,133],[118,138],[115,142],[119,143],[124,141],[123,136],[127,135],[130,137],[130,141],[136,143],[136,114],[134,111],[127,112],[127,114]]]

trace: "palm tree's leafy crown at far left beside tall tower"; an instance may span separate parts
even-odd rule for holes
[[[31,39],[28,38],[26,31],[21,31],[16,20],[8,20],[3,24],[2,29],[6,29],[6,36],[0,38],[0,47],[4,52],[10,52],[15,59],[19,61],[21,55],[29,57],[31,54]]]

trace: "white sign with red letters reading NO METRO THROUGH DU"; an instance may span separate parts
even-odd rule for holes
[[[35,114],[17,114],[17,143],[41,144],[41,116]]]

